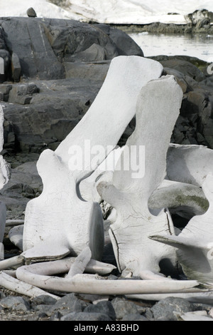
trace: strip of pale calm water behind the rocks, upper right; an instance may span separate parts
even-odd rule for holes
[[[144,56],[185,55],[213,63],[213,35],[207,33],[163,34],[129,33],[143,50]]]

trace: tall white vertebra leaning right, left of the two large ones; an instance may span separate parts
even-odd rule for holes
[[[101,259],[104,247],[102,210],[84,201],[79,184],[106,158],[136,113],[141,88],[159,78],[163,66],[139,56],[111,61],[97,97],[80,123],[58,148],[45,150],[37,163],[42,194],[28,202],[23,230],[26,258],[59,259],[79,254],[86,245]],[[89,148],[88,148],[89,145]],[[110,150],[109,150],[110,146]],[[89,150],[94,155],[91,159]],[[84,155],[84,150],[87,150]],[[83,166],[75,166],[75,160]]]

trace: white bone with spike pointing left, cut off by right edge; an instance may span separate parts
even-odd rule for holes
[[[192,217],[177,237],[152,236],[155,241],[177,248],[178,260],[188,279],[213,283],[213,175],[202,183],[209,208],[203,215]]]

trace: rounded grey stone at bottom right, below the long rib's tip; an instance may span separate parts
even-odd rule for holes
[[[174,297],[160,300],[151,307],[155,321],[178,321],[175,313],[184,314],[193,310],[193,304],[189,301]]]

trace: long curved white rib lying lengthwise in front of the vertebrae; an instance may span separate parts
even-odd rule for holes
[[[16,277],[23,282],[28,282],[42,289],[56,290],[58,292],[75,292],[84,294],[137,294],[157,292],[178,292],[193,290],[199,283],[196,281],[155,281],[155,280],[99,280],[88,279],[84,275],[76,275],[71,279],[50,277],[45,275],[55,274],[55,269],[46,269],[45,263],[37,263],[19,267]]]

